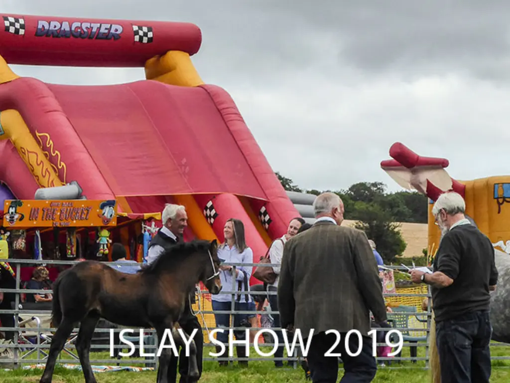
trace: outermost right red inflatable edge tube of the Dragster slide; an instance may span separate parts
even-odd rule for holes
[[[266,230],[272,240],[281,237],[287,232],[289,222],[300,217],[292,201],[287,196],[285,189],[274,174],[266,157],[262,153],[257,141],[244,123],[243,117],[230,95],[222,88],[215,85],[200,85],[206,89],[219,112],[221,113],[226,126],[232,133],[239,149],[251,167],[251,171],[262,186],[269,202],[251,199],[253,212],[262,216],[265,220]],[[264,207],[264,208],[263,208]],[[267,224],[268,223],[268,224]]]

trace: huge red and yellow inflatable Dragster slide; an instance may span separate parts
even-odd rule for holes
[[[192,236],[207,240],[223,241],[225,221],[238,218],[254,261],[299,216],[230,95],[195,70],[197,26],[2,17],[0,181],[16,198],[77,181],[87,199],[115,198],[124,213],[180,203]],[[47,84],[9,64],[143,67],[145,78]]]

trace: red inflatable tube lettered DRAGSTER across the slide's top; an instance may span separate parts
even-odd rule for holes
[[[168,51],[194,55],[202,42],[186,22],[2,16],[0,55],[9,64],[143,67]]]

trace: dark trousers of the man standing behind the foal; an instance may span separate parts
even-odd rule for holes
[[[189,314],[184,319],[179,321],[184,332],[188,335],[191,335],[193,329],[197,329],[193,340],[196,344],[196,362],[198,365],[198,373],[202,376],[202,358],[203,358],[203,332],[202,326],[200,326],[200,322],[198,319]],[[179,349],[177,349],[179,351]],[[177,362],[179,362],[179,374],[181,378],[179,379],[180,383],[186,383],[188,381],[188,358],[186,357],[186,348],[182,347],[179,353],[179,357],[174,356],[173,352],[170,353],[170,363],[168,365],[168,374],[167,379],[169,383],[175,382],[177,380]]]

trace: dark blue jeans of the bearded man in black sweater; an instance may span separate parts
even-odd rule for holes
[[[489,312],[436,323],[441,383],[489,383],[492,326]]]

